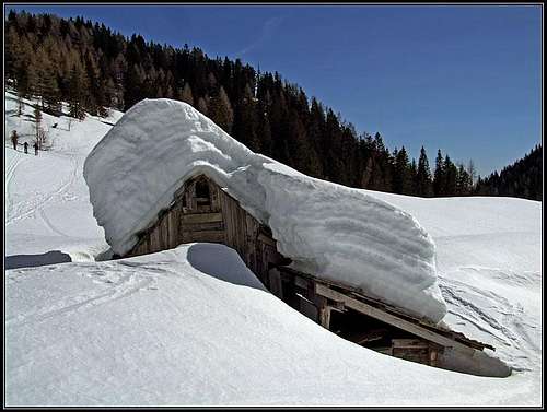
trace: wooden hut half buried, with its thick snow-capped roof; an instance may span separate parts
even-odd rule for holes
[[[89,155],[84,177],[119,257],[222,243],[271,293],[342,338],[432,366],[510,374],[484,352],[492,346],[443,326],[434,244],[411,215],[255,154],[189,105],[133,106]]]

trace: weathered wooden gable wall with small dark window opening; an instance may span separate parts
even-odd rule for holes
[[[208,199],[196,196],[196,186],[203,184],[209,187]],[[271,263],[286,260],[277,251],[269,228],[205,176],[187,180],[171,208],[161,212],[158,221],[139,237],[127,256],[152,254],[193,242],[224,244],[237,251],[267,287]]]

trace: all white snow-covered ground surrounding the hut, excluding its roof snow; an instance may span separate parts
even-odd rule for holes
[[[34,156],[11,148],[32,122],[13,116],[13,95],[5,105],[7,405],[542,404],[540,202],[365,191],[432,236],[443,321],[513,367],[468,376],[336,337],[220,245],[94,262],[108,246],[83,162],[121,114],[70,132],[44,115],[54,146]]]

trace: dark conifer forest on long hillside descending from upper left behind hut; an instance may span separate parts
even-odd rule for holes
[[[14,11],[5,22],[4,52],[5,76],[19,98],[37,98],[46,113],[60,114],[67,102],[70,116],[83,119],[85,113],[107,116],[109,107],[125,111],[143,98],[174,98],[252,151],[313,177],[421,197],[477,189],[473,162],[454,164],[439,150],[432,173],[423,148],[418,162],[404,146],[391,151],[380,133],[358,133],[296,84],[240,59],[125,37],[82,17]]]

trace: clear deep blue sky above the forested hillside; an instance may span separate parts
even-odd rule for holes
[[[11,7],[4,5],[10,9]],[[485,176],[542,142],[539,5],[32,5],[278,71],[431,167]]]

